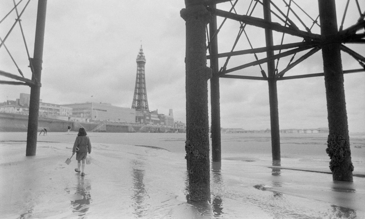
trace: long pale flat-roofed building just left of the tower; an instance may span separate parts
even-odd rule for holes
[[[135,109],[113,106],[110,103],[73,103],[62,106],[72,108],[75,117],[86,120],[135,123]]]

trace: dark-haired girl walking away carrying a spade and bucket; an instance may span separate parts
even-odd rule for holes
[[[75,140],[75,143],[73,144],[72,149],[72,155],[76,152],[76,160],[77,160],[77,168],[75,171],[77,173],[81,172],[81,176],[85,176],[85,160],[88,155],[88,153],[91,153],[91,142],[88,136],[86,136],[86,130],[85,128],[79,128],[78,134]],[[82,161],[82,164],[81,164]],[[81,166],[81,170],[80,170]]]

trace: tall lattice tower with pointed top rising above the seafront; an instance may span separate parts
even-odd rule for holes
[[[137,76],[136,76],[136,85],[134,88],[132,109],[146,110],[147,112],[149,112],[147,91],[146,91],[146,79],[145,79],[146,58],[145,54],[143,54],[142,45],[141,49],[139,49],[136,62],[137,62]]]

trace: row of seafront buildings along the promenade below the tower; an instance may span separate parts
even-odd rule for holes
[[[30,95],[21,93],[19,99],[7,100],[0,104],[0,112],[11,114],[29,114]],[[158,111],[135,110],[113,106],[110,103],[72,103],[53,104],[39,103],[39,116],[78,122],[117,122],[138,123],[165,127],[185,128],[185,123],[174,124],[172,109],[169,115],[158,114]]]

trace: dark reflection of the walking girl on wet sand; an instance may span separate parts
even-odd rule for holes
[[[86,218],[85,215],[90,208],[91,201],[91,184],[89,179],[81,177],[79,174],[77,176],[77,185],[75,192],[75,199],[71,200],[71,205],[73,207],[73,212],[76,212],[80,219]]]

